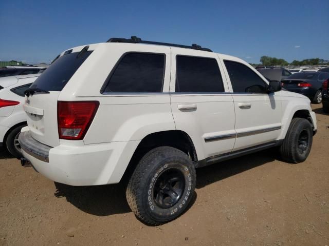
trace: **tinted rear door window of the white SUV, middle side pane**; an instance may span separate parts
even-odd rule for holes
[[[176,92],[224,92],[216,59],[176,57]]]

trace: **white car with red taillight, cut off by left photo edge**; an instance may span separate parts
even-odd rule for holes
[[[40,74],[0,78],[0,145],[15,157],[22,157],[18,136],[26,126],[24,91]]]

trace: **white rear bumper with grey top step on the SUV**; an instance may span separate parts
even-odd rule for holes
[[[66,141],[51,148],[33,139],[29,131],[23,131],[19,141],[24,157],[35,170],[53,181],[71,186],[118,183],[140,142],[76,146],[74,141]]]

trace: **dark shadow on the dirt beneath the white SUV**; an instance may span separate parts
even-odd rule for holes
[[[275,153],[276,151],[271,149],[265,150],[197,169],[196,188],[201,189],[210,183],[273,161],[276,159]],[[125,198],[126,178],[116,185],[105,186],[75,187],[57,182],[54,184],[57,189],[54,193],[56,197],[65,197],[73,206],[88,214],[108,216],[131,212]],[[193,205],[196,197],[195,192],[189,207]]]

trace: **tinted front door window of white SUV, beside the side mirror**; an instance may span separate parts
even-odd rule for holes
[[[247,66],[234,61],[224,61],[231,79],[233,92],[267,92],[267,84]]]

